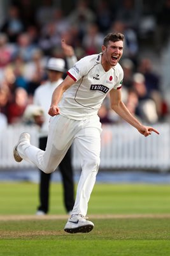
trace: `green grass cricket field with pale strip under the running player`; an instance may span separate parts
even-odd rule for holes
[[[38,184],[0,184],[2,256],[169,256],[168,184],[96,184],[88,216],[94,230],[67,234],[62,186],[51,186],[50,214],[35,216]]]

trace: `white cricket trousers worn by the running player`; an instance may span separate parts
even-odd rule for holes
[[[57,115],[50,118],[45,151],[25,142],[20,143],[17,147],[18,153],[23,159],[34,163],[45,173],[52,173],[74,141],[80,154],[81,175],[73,214],[82,214],[83,216],[87,214],[90,194],[99,170],[101,131],[101,122],[97,115],[90,116],[86,120],[73,120]]]

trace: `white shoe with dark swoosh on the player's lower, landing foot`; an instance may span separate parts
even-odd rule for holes
[[[64,231],[67,233],[88,233],[94,228],[94,223],[81,214],[72,214],[68,219]]]

